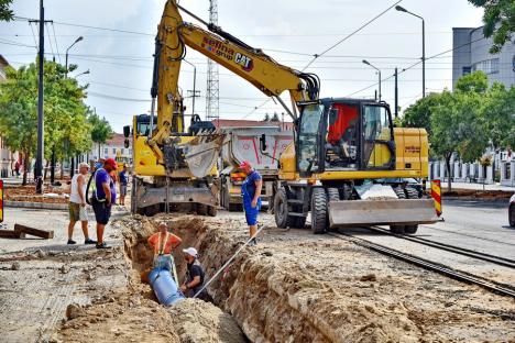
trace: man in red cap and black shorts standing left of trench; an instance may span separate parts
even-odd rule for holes
[[[95,174],[96,190],[92,196],[92,208],[97,220],[97,248],[108,248],[103,242],[103,230],[111,218],[111,207],[117,201],[114,181],[109,175],[117,169],[117,162],[108,158],[103,162],[103,168]]]

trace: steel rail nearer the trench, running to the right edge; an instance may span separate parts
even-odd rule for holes
[[[387,247],[387,246],[384,246],[384,245],[381,245],[381,244],[377,244],[377,243],[372,243],[370,241],[366,241],[365,239],[353,236],[350,233],[331,232],[331,233],[329,233],[329,235],[331,235],[333,237],[337,237],[339,240],[352,242],[354,244],[358,244],[360,246],[370,248],[370,250],[375,251],[377,253],[381,253],[383,255],[391,256],[391,257],[394,257],[396,259],[407,262],[409,264],[423,267],[425,269],[436,272],[438,274],[445,275],[445,276],[453,278],[456,280],[467,283],[467,284],[470,284],[470,285],[480,286],[480,287],[482,287],[482,288],[484,288],[484,289],[486,289],[486,290],[489,290],[491,292],[494,292],[494,294],[497,294],[497,295],[501,295],[501,296],[505,296],[505,297],[515,298],[515,287],[513,287],[513,286],[500,284],[500,283],[493,281],[493,280],[489,280],[489,279],[485,279],[483,277],[473,275],[473,274],[469,274],[469,273],[464,273],[464,272],[453,269],[451,267],[441,265],[441,264],[436,263],[436,262],[431,262],[431,261],[428,261],[428,259],[425,259],[425,258],[420,258],[420,257],[417,257],[417,256],[414,256],[414,255],[410,255],[410,254],[402,253],[402,252],[399,252],[397,250],[394,250],[394,248],[391,248],[391,247]]]

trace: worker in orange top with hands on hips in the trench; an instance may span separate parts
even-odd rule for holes
[[[149,237],[149,244],[154,250],[154,268],[167,269],[175,274],[172,251],[179,246],[183,240],[168,232],[166,223],[160,223],[157,230],[156,233]]]

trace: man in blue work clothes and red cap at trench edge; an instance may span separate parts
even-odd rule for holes
[[[241,196],[243,197],[243,209],[245,211],[246,224],[249,225],[250,244],[256,245],[258,241],[258,214],[261,210],[261,188],[263,178],[254,170],[248,161],[240,164],[240,169],[246,174],[246,178],[241,185]]]

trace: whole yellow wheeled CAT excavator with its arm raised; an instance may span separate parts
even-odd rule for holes
[[[207,30],[184,22],[179,10]],[[424,129],[394,128],[385,102],[319,98],[316,75],[278,64],[261,49],[206,23],[176,0],[165,4],[156,41],[156,56],[161,59],[154,75],[171,89],[158,92],[165,113],[182,111],[174,95],[186,46],[276,99],[294,120],[294,143],[278,159],[280,177],[274,185],[273,210],[280,228],[304,228],[308,214],[315,233],[371,224],[388,224],[395,233],[415,233],[417,224],[436,221],[434,201],[424,198],[419,185],[412,185],[412,180],[423,179],[428,173]],[[284,91],[289,92],[291,107],[280,98]],[[164,123],[167,117],[157,118],[158,132],[145,141],[147,151],[156,152],[158,139],[169,135],[169,124]],[[201,142],[190,155],[204,152],[206,157],[216,151],[215,143]],[[262,153],[266,154],[267,148],[263,135]],[[138,146],[134,152],[139,154]],[[153,162],[160,163],[158,155]]]

